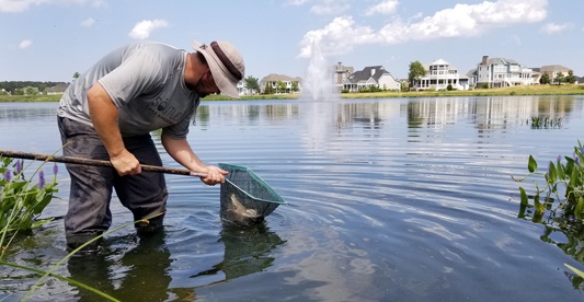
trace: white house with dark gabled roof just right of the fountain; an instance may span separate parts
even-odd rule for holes
[[[380,90],[399,91],[401,83],[382,66],[369,66],[356,71],[343,81],[343,90],[357,92],[363,89],[377,88]]]

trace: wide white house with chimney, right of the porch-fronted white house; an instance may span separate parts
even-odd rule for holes
[[[541,73],[515,60],[483,56],[471,74],[477,86],[506,88],[538,84]]]

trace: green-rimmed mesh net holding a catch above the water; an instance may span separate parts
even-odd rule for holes
[[[250,169],[224,163],[219,167],[229,172],[221,184],[222,221],[243,225],[260,223],[279,205],[286,204]]]

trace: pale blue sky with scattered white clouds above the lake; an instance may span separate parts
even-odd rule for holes
[[[404,79],[437,59],[466,74],[483,56],[583,77],[583,12],[582,0],[0,0],[0,81],[70,82],[137,40],[228,40],[259,79],[337,62]]]

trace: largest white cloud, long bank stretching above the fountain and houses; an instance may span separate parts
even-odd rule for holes
[[[314,43],[323,54],[347,53],[355,45],[398,44],[406,40],[476,36],[511,24],[540,22],[547,16],[547,0],[497,0],[456,4],[415,21],[394,18],[379,31],[357,25],[352,16],[335,18],[321,30],[310,31],[300,42],[299,57],[310,57]]]

